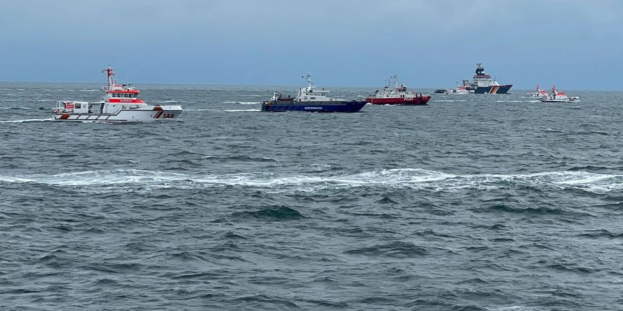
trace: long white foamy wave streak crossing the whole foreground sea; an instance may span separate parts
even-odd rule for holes
[[[354,187],[407,188],[424,191],[489,190],[521,186],[582,189],[603,193],[623,189],[623,174],[584,171],[553,171],[532,174],[453,175],[426,169],[376,169],[363,173],[325,175],[280,175],[275,173],[237,173],[192,176],[182,173],[117,169],[82,171],[55,175],[1,176],[0,182],[33,182],[46,185],[194,188],[219,185],[259,187],[269,191],[320,191]]]

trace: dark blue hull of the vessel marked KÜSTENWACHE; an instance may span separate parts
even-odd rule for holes
[[[263,102],[262,111],[307,111],[307,112],[343,112],[360,111],[367,102],[293,102],[278,100]]]

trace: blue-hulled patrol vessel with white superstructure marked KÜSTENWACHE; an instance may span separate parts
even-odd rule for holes
[[[357,112],[367,102],[365,100],[339,100],[329,97],[329,91],[316,89],[311,82],[311,74],[307,73],[307,86],[298,90],[295,97],[284,97],[281,93],[273,93],[271,100],[262,102],[262,111],[309,111],[309,112]]]

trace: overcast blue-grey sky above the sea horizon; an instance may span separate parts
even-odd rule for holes
[[[623,1],[1,1],[0,81],[623,89]]]

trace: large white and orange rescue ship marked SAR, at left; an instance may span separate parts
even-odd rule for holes
[[[138,99],[138,89],[127,84],[118,84],[110,66],[102,73],[108,75],[108,85],[102,86],[105,91],[101,102],[59,101],[52,111],[57,121],[89,121],[89,122],[152,122],[172,120],[178,117],[183,109],[181,106],[161,106],[145,104]]]

